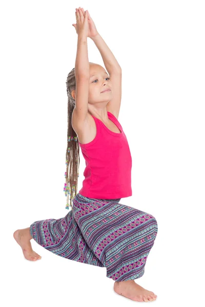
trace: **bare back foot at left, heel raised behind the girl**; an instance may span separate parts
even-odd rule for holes
[[[30,239],[30,228],[18,229],[14,231],[13,237],[23,250],[24,257],[27,260],[35,261],[41,256],[32,250]]]

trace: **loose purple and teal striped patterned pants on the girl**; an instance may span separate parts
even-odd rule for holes
[[[116,281],[140,278],[157,235],[154,216],[119,203],[77,194],[65,217],[37,221],[30,233],[61,257],[106,267]]]

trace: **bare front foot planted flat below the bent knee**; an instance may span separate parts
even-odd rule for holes
[[[137,302],[149,302],[156,300],[157,297],[154,292],[148,291],[139,286],[139,284],[137,284],[134,279],[115,281],[114,291],[117,294],[130,298]]]

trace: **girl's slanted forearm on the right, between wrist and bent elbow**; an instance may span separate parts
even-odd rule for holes
[[[98,48],[108,73],[110,74],[113,72],[121,72],[121,67],[119,63],[117,62],[112,51],[109,49],[105,40],[99,35],[99,33],[91,39],[94,41],[96,47]]]

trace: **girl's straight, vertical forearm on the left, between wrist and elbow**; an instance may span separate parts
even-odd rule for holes
[[[90,76],[90,66],[88,60],[88,42],[86,36],[78,36],[77,53],[75,60],[75,78]]]

